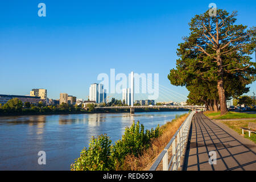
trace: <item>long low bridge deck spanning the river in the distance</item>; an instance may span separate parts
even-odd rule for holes
[[[205,109],[205,106],[174,106],[174,105],[151,105],[151,106],[106,106],[106,107],[95,107],[95,109],[130,109],[130,113],[134,114],[135,109],[190,109],[190,110],[196,110],[196,109]]]

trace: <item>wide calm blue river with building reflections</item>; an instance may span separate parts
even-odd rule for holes
[[[0,170],[69,170],[92,135],[106,133],[115,142],[133,121],[151,129],[184,113],[187,111],[0,117]],[[46,152],[45,165],[38,164],[39,151]]]

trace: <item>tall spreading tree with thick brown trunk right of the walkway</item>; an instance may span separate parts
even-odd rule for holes
[[[176,69],[168,79],[189,90],[188,102],[220,104],[225,114],[226,99],[249,91],[255,81],[255,63],[250,55],[255,49],[255,27],[236,25],[237,12],[217,10],[216,16],[195,15],[189,23],[189,36],[177,48]],[[217,108],[216,108],[217,109]]]

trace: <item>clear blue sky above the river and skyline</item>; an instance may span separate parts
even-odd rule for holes
[[[46,17],[38,16],[40,2]],[[187,96],[167,75],[189,20],[211,2],[238,10],[237,23],[255,26],[255,1],[1,1],[0,93],[45,88],[49,98],[65,92],[85,99],[98,74],[115,68],[159,73],[160,85]],[[256,84],[250,87],[252,95]],[[175,101],[175,92],[159,100]]]

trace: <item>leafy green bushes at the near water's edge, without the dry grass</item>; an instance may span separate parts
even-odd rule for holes
[[[151,139],[160,136],[159,125],[155,129],[144,130],[139,121],[125,129],[121,140],[112,144],[109,137],[104,134],[98,138],[92,137],[88,149],[81,151],[80,157],[71,164],[72,171],[105,171],[122,169],[125,156],[133,154],[138,156],[150,146]]]

